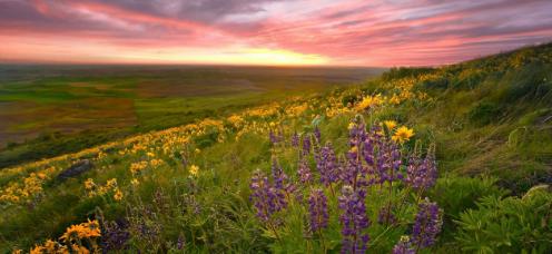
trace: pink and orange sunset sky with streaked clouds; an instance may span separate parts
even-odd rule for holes
[[[0,0],[0,62],[437,66],[552,40],[552,0]]]

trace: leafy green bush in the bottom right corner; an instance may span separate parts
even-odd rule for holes
[[[552,193],[538,186],[523,198],[487,196],[456,223],[456,240],[471,253],[550,253]]]

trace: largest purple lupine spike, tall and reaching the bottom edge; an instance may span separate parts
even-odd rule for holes
[[[343,211],[339,219],[343,224],[343,246],[342,253],[365,253],[369,236],[364,231],[369,226],[366,216],[364,199],[365,190],[354,189],[352,186],[343,186],[339,196],[339,208]]]

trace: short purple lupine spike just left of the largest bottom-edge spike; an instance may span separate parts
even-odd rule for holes
[[[308,213],[310,215],[310,231],[317,232],[326,228],[328,224],[327,197],[321,188],[313,189],[308,198]]]

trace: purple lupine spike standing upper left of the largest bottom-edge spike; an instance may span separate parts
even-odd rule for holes
[[[321,183],[328,186],[332,183],[337,182],[339,177],[339,165],[337,164],[337,158],[335,157],[335,152],[331,143],[327,143],[319,149],[315,159],[316,168],[321,174]]]

